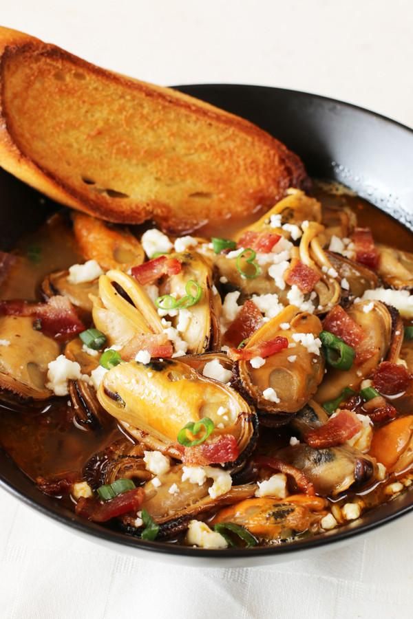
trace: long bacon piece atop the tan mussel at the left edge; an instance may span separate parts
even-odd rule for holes
[[[32,316],[39,320],[40,330],[47,336],[66,339],[85,330],[67,296],[52,296],[47,303],[0,301],[2,316]]]

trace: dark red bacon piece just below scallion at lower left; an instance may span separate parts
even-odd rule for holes
[[[145,490],[143,488],[134,488],[133,490],[122,492],[121,495],[109,501],[81,497],[74,511],[78,516],[87,518],[87,520],[107,522],[128,512],[137,512],[144,501]]]

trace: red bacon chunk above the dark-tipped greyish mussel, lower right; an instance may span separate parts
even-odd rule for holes
[[[304,440],[315,449],[342,445],[357,434],[363,427],[356,413],[341,409],[338,415],[331,417],[324,426],[308,432]]]

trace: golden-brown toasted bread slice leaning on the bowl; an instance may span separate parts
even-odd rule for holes
[[[168,232],[244,217],[308,181],[251,122],[0,28],[0,166],[52,199]]]

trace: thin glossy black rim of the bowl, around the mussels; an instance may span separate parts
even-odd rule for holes
[[[403,131],[407,131],[413,135],[413,127],[408,127],[407,125],[399,122],[398,120],[393,120],[392,118],[388,118],[388,116],[384,116],[383,114],[369,110],[365,107],[361,107],[357,104],[346,102],[343,100],[339,100],[336,98],[324,96],[321,94],[314,94],[308,91],[301,91],[296,89],[288,89],[281,87],[272,87],[268,85],[259,85],[259,84],[240,84],[240,83],[197,83],[197,84],[182,84],[178,86],[173,86],[174,89],[186,91],[186,89],[211,89],[211,88],[220,88],[220,89],[267,89],[271,91],[278,91],[279,93],[289,93],[293,96],[302,97],[307,96],[308,98],[312,98],[315,100],[321,100],[323,102],[334,103],[341,107],[345,107],[348,109],[354,109],[360,111],[361,113],[366,114],[367,116],[378,118],[381,121],[390,123],[399,127]],[[197,98],[198,95],[195,95]],[[17,464],[14,463],[12,458],[3,450],[0,446],[0,450],[2,450],[8,459],[12,461],[12,465],[17,467]],[[20,470],[20,469],[19,469]],[[22,475],[25,475],[21,471]],[[324,532],[323,534],[317,536],[310,536],[306,539],[297,539],[295,541],[291,541],[288,543],[277,543],[275,545],[268,546],[257,546],[252,548],[236,548],[229,547],[226,550],[210,550],[200,547],[192,547],[192,546],[184,546],[184,545],[175,545],[173,543],[169,543],[166,541],[146,541],[139,539],[138,537],[134,537],[120,530],[114,530],[111,528],[105,528],[101,525],[97,525],[96,523],[92,523],[90,521],[83,521],[82,519],[72,515],[66,515],[65,510],[62,510],[60,506],[43,506],[41,501],[37,501],[35,498],[31,498],[23,492],[23,490],[19,489],[12,481],[6,479],[3,475],[3,472],[0,471],[0,488],[6,490],[13,497],[19,499],[25,505],[30,506],[37,512],[45,515],[46,517],[54,519],[58,523],[65,525],[70,530],[75,530],[81,532],[86,537],[90,537],[90,541],[105,541],[109,542],[118,547],[118,550],[121,548],[131,548],[139,551],[150,551],[158,554],[167,554],[175,557],[184,556],[191,557],[196,559],[202,558],[259,558],[262,556],[273,556],[276,559],[277,555],[282,554],[292,554],[294,558],[297,558],[297,553],[304,550],[309,550],[311,548],[323,547],[332,545],[334,543],[339,543],[340,541],[348,540],[356,538],[359,535],[370,532],[374,529],[380,528],[381,526],[390,523],[396,519],[401,518],[408,512],[412,512],[413,510],[413,501],[409,505],[402,506],[399,510],[394,513],[385,514],[380,519],[374,521],[366,521],[363,522],[361,519],[360,523],[355,525],[354,523],[348,523],[347,525],[342,525],[340,528]],[[41,495],[40,495],[41,496]],[[50,497],[52,498],[52,497]],[[387,503],[385,503],[387,504]],[[379,508],[372,508],[373,510]]]

